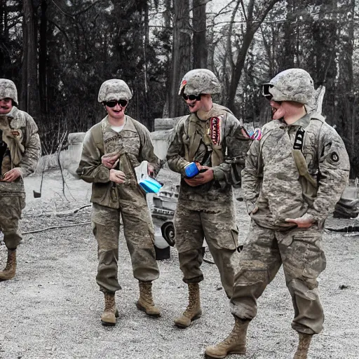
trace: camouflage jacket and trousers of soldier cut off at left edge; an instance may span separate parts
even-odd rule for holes
[[[18,230],[25,208],[22,177],[34,172],[39,161],[41,145],[37,131],[32,116],[15,106],[8,114],[0,115],[1,177],[13,168],[20,168],[22,173],[14,182],[0,182],[0,230],[8,249],[17,248],[22,239]]]

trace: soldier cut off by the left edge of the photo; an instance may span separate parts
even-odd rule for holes
[[[0,230],[8,248],[8,262],[0,280],[12,279],[16,271],[18,229],[25,208],[23,177],[34,172],[41,154],[37,126],[29,114],[18,109],[15,83],[0,79]]]

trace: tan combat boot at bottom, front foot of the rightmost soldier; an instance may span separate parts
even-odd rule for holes
[[[245,354],[245,340],[250,320],[234,317],[235,323],[229,336],[216,346],[205,348],[207,358],[226,358],[229,354]]]

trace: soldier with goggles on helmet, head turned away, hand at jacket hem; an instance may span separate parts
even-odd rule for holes
[[[323,227],[348,182],[348,155],[334,128],[312,111],[307,72],[287,69],[263,90],[273,121],[253,142],[242,172],[252,221],[231,297],[235,325],[224,341],[206,348],[209,358],[245,353],[257,299],[282,264],[294,306],[292,328],[299,333],[294,359],[307,358],[313,334],[323,328],[317,282],[326,264]]]

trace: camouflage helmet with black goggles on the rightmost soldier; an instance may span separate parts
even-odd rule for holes
[[[294,101],[311,104],[314,84],[304,69],[287,69],[263,85],[263,95],[273,101]]]

